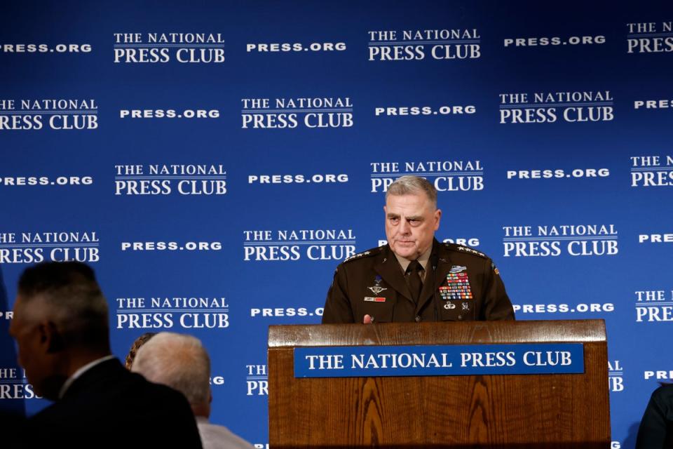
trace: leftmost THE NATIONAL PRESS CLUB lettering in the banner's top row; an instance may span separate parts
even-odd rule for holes
[[[122,64],[222,64],[221,33],[114,33],[114,62]]]

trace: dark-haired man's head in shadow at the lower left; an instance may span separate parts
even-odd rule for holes
[[[55,400],[77,369],[110,354],[107,300],[93,269],[80,262],[25,269],[10,334],[36,393]]]

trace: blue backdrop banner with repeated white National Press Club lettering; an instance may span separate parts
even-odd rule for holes
[[[670,2],[23,1],[0,67],[3,332],[22,269],[87,262],[114,353],[200,338],[212,422],[263,448],[268,326],[320,322],[414,174],[517,319],[605,319],[614,448],[673,377]]]

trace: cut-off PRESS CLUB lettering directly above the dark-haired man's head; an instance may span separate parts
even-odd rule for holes
[[[19,237],[19,238],[17,238]],[[0,232],[0,264],[93,263],[100,260],[97,232]]]

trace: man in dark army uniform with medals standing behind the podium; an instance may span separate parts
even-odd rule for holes
[[[400,177],[383,210],[388,244],[339,264],[322,323],[514,319],[491,259],[435,239],[442,210],[428,180]]]

